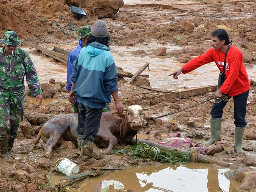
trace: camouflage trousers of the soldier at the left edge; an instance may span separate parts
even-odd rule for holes
[[[11,150],[17,137],[19,123],[23,120],[24,100],[17,103],[11,97],[5,104],[0,103],[0,150]]]

